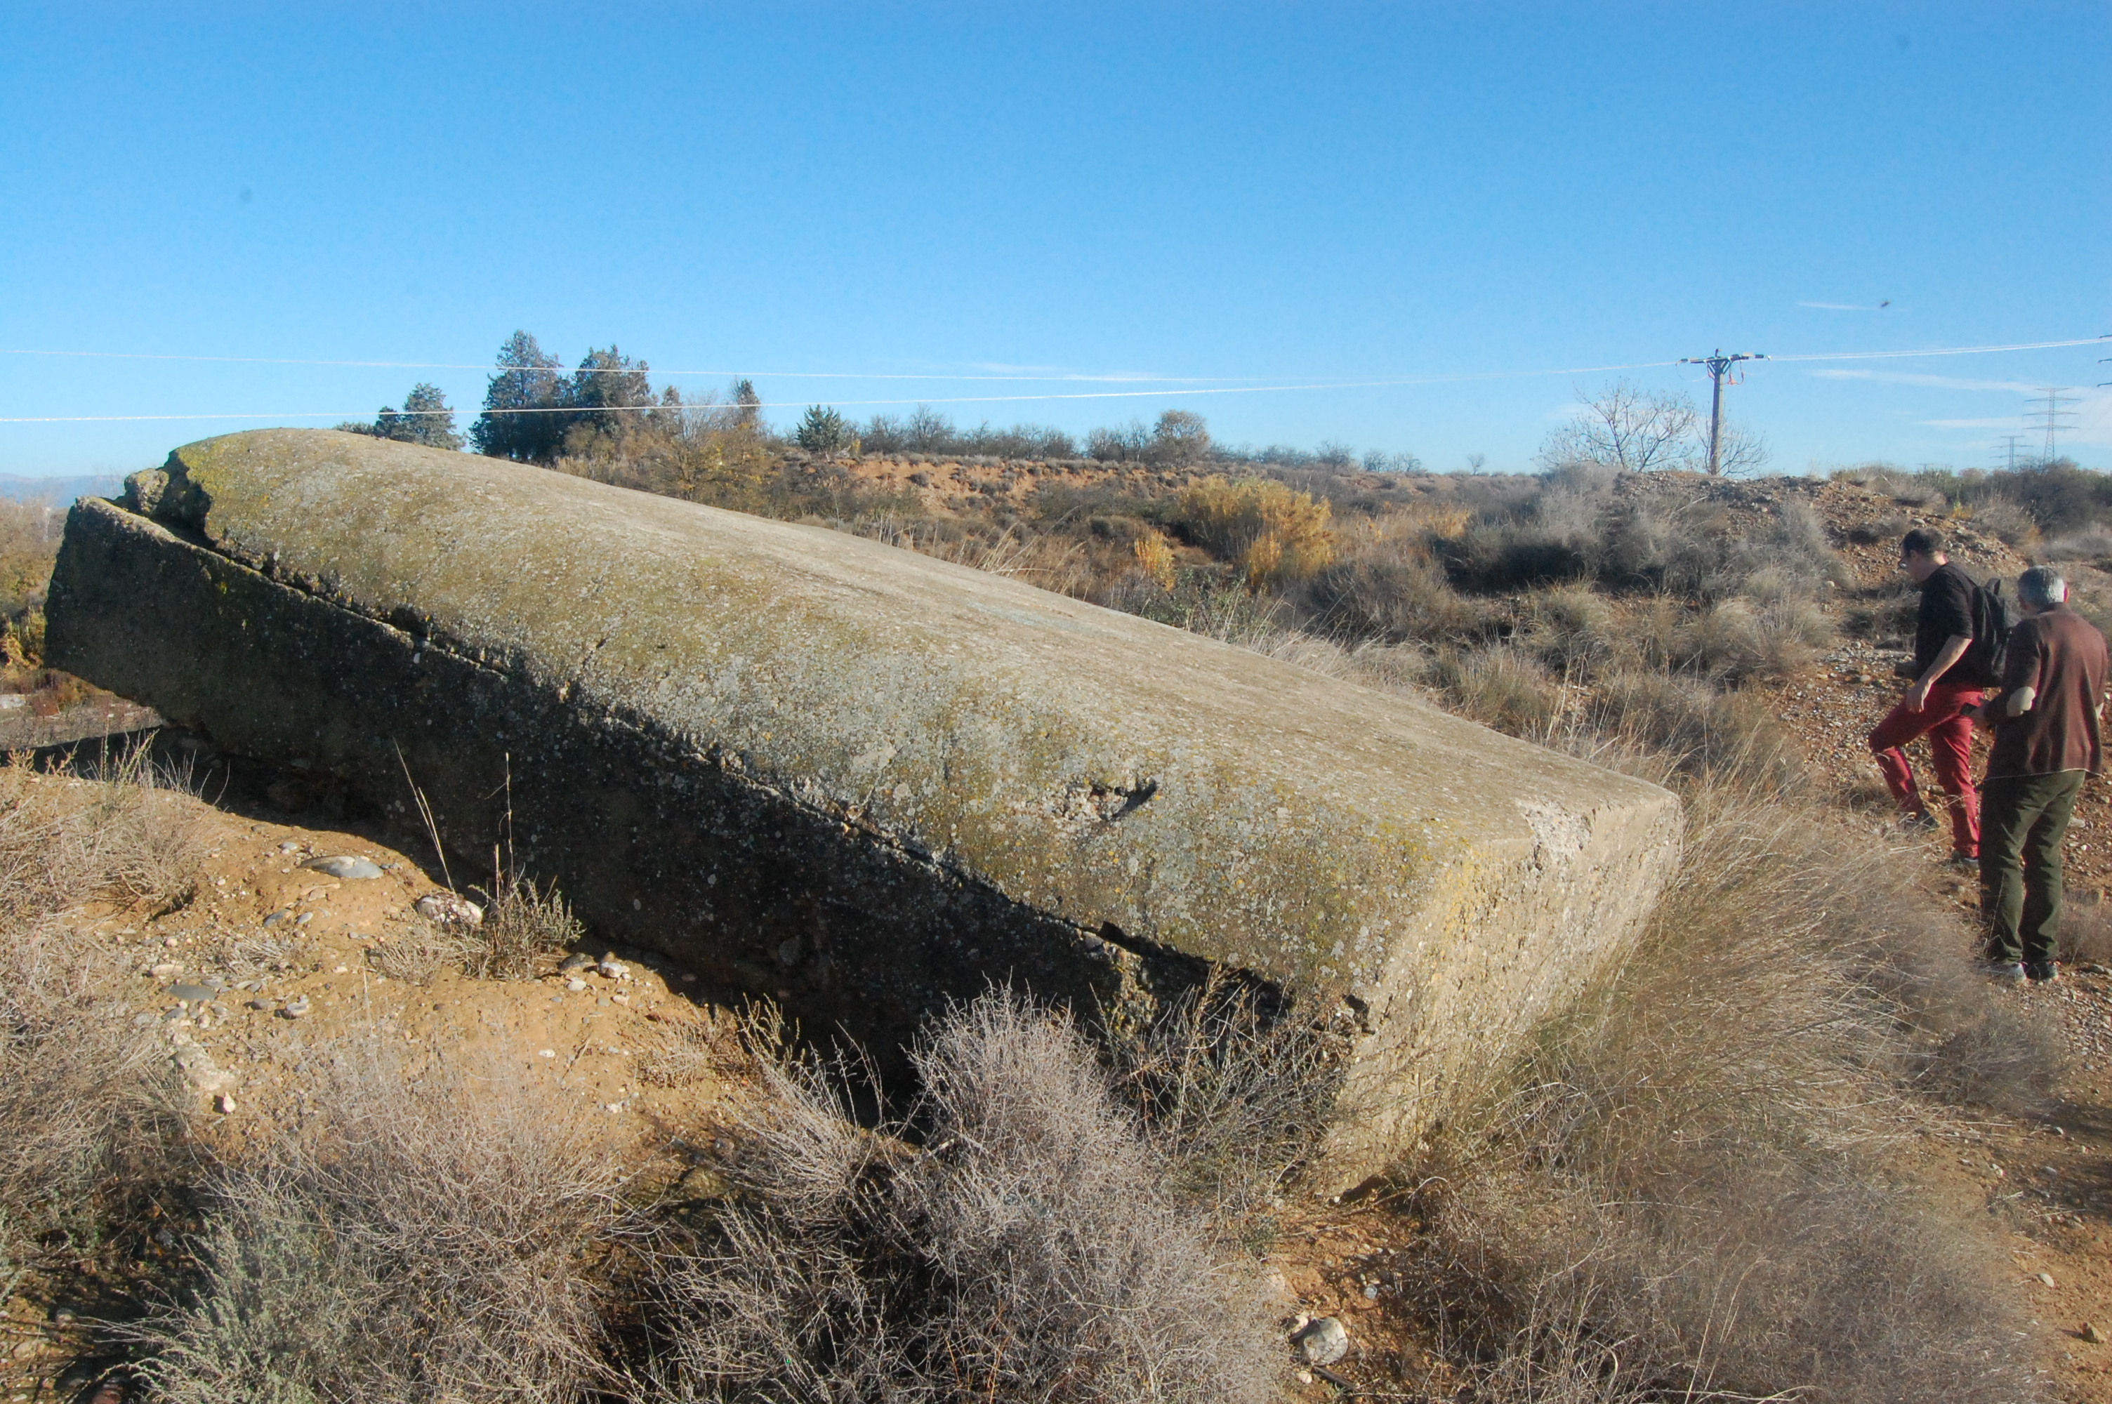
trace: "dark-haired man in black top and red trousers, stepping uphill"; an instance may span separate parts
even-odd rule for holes
[[[1903,750],[1909,741],[1928,737],[1937,783],[1949,796],[1951,861],[1977,868],[1979,794],[1973,790],[1973,718],[1966,712],[1979,707],[1981,688],[1992,682],[1979,678],[1966,661],[1977,587],[1945,555],[1943,536],[1928,528],[1905,534],[1899,566],[1922,587],[1913,623],[1913,686],[1869,733],[1869,750],[1901,813],[1935,828]]]

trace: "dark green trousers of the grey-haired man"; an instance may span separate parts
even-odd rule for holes
[[[2082,771],[1981,783],[1981,921],[1990,961],[2051,961],[2061,933],[2061,840]]]

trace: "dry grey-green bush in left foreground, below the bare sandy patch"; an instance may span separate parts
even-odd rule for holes
[[[129,1330],[156,1398],[579,1400],[631,1220],[568,1102],[338,1049],[310,1106],[207,1178],[194,1288]]]

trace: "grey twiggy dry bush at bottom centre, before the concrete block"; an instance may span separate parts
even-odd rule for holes
[[[921,1149],[841,1068],[758,1045],[746,1195],[670,1260],[663,1396],[1252,1400],[1280,1347],[1246,1271],[1162,1184],[1071,1024],[1007,992],[914,1049]]]

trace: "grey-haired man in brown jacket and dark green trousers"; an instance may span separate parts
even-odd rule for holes
[[[1979,707],[1994,726],[1981,779],[1981,918],[1998,980],[2055,980],[2061,927],[2061,840],[2097,775],[2106,640],[2068,608],[2068,583],[2047,566],[2017,576],[2023,621],[2011,629],[2002,688]]]

